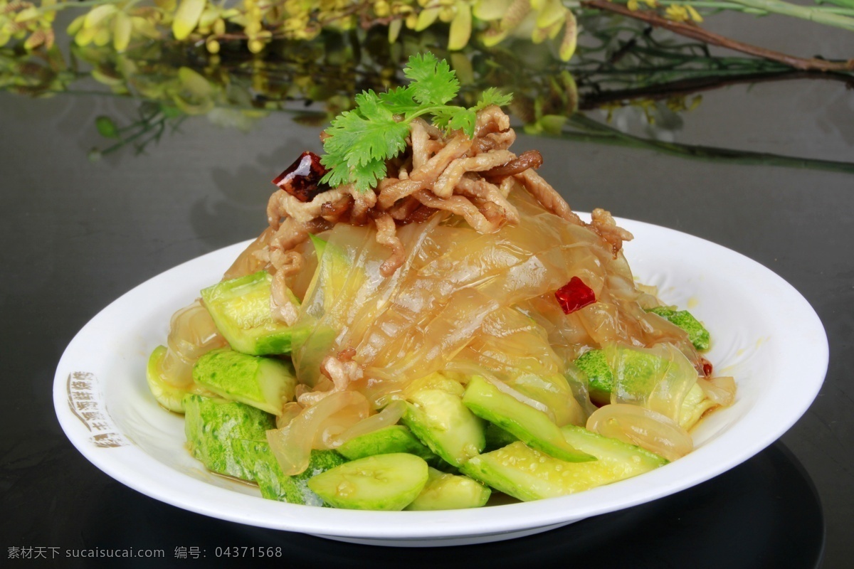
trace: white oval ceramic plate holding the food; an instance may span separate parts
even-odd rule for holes
[[[733,406],[693,432],[693,453],[634,479],[492,508],[362,512],[267,501],[253,486],[208,473],[184,448],[183,418],[149,394],[145,363],[165,341],[173,311],[219,281],[246,243],[167,270],[92,318],[56,370],[56,415],[87,459],[143,494],[221,520],[359,543],[497,541],[673,494],[746,461],[785,433],[822,386],[828,340],[806,300],[762,265],[678,231],[618,221],[635,234],[626,246],[635,276],[705,322],[713,340],[707,357],[717,374],[738,383]]]

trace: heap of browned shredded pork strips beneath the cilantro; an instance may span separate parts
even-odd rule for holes
[[[407,150],[389,160],[389,177],[381,180],[377,189],[360,192],[343,185],[307,201],[286,191],[274,192],[267,202],[269,228],[247,251],[277,273],[273,316],[285,322],[294,318],[295,307],[289,305],[284,281],[297,264],[290,253],[309,234],[336,223],[374,224],[377,242],[389,249],[381,271],[383,276],[390,276],[405,257],[398,225],[421,223],[445,211],[464,218],[480,233],[493,233],[504,224],[518,223],[518,212],[507,199],[518,186],[559,218],[593,229],[617,255],[631,234],[617,227],[604,210],[594,211],[592,223],[585,224],[558,191],[536,173],[542,164],[539,152],[529,150],[517,156],[508,150],[515,140],[510,118],[499,107],[477,113],[474,139],[461,131],[446,136],[423,119],[414,119],[409,125]]]

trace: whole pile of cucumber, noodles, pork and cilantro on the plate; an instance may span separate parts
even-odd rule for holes
[[[368,91],[273,182],[268,227],[172,318],[151,392],[214,473],[297,504],[476,508],[564,496],[693,449],[735,384],[632,238],[582,221],[445,61]]]

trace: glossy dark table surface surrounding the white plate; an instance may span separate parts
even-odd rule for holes
[[[761,24],[763,37],[776,41],[777,25]],[[828,56],[851,47],[850,36],[837,33],[795,34],[786,42]],[[519,137],[514,149],[539,148],[541,173],[574,208],[603,206],[699,235],[791,282],[827,329],[830,368],[816,402],[781,441],[705,484],[533,537],[417,551],[261,530],[173,508],[108,478],[61,432],[51,384],[79,328],[161,271],[257,235],[269,180],[302,150],[320,148],[319,129],[288,113],[271,113],[248,132],[200,116],[143,154],[126,148],[87,160],[90,148],[103,144],[96,117],[128,118],[137,107],[122,97],[0,92],[4,566],[35,564],[15,559],[25,552],[53,556],[47,562],[54,566],[92,566],[65,551],[96,548],[165,552],[164,560],[122,566],[247,563],[221,550],[217,556],[217,548],[232,546],[281,548],[282,559],[252,560],[270,566],[850,566],[854,91],[845,81],[734,84],[706,92],[676,123],[655,128],[636,107],[613,110],[610,122],[605,110],[586,111],[588,119],[658,146]],[[731,152],[710,157],[708,148]]]

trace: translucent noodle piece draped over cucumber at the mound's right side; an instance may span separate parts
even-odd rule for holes
[[[697,383],[697,370],[674,345],[605,346],[614,374],[612,404],[634,404],[678,422],[682,401]]]

